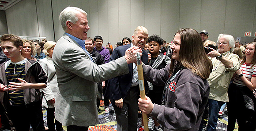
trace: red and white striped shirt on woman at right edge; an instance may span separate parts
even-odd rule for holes
[[[247,64],[247,63],[242,64],[240,67],[240,69],[242,69],[242,73],[244,74],[245,78],[247,78],[249,81],[251,81],[252,77],[256,77],[256,65],[254,65],[252,68],[251,67],[252,67],[252,64]],[[238,76],[238,74],[235,76],[233,83],[239,86],[245,86],[244,82]]]

